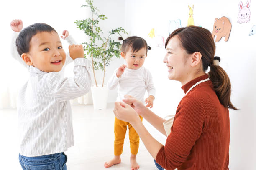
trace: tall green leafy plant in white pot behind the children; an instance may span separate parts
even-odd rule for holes
[[[127,32],[118,27],[108,32],[107,37],[103,37],[103,31],[99,25],[100,20],[105,20],[107,17],[99,14],[99,10],[93,6],[92,0],[86,0],[86,5],[81,7],[89,7],[91,11],[91,18],[85,20],[76,20],[74,23],[77,28],[84,31],[85,35],[89,37],[89,42],[82,43],[84,45],[84,57],[90,57],[92,60],[92,70],[95,80],[95,87],[92,87],[92,100],[95,109],[105,109],[107,105],[108,89],[104,86],[106,66],[110,65],[112,57],[120,58],[121,43],[111,39],[112,35]],[[122,35],[120,35],[122,36]],[[98,86],[95,77],[95,70],[102,70],[103,80],[102,85]]]

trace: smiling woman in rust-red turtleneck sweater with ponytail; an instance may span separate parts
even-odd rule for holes
[[[228,170],[231,85],[215,60],[215,43],[209,30],[178,28],[166,40],[164,63],[168,78],[181,82],[180,101],[166,145],[155,140],[138,115],[166,135],[163,120],[135,98],[115,102],[115,116],[129,122],[148,152],[167,170]],[[205,74],[210,67],[208,74]],[[209,80],[209,79],[210,80]]]

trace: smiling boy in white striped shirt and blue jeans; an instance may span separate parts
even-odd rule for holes
[[[17,51],[29,66],[29,79],[17,97],[19,160],[23,170],[67,170],[64,151],[74,145],[69,100],[90,90],[91,62],[82,45],[69,46],[74,77],[62,78],[66,62],[59,35],[51,26],[36,23],[24,28]]]

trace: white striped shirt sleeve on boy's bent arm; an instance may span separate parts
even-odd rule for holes
[[[47,85],[58,101],[66,101],[80,97],[90,91],[91,62],[85,58],[74,60],[74,77],[62,78],[56,72],[49,73]]]

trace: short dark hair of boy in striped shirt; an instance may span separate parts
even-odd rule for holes
[[[31,38],[34,35],[36,35],[38,32],[51,33],[51,32],[56,32],[56,30],[54,30],[54,28],[52,28],[50,25],[47,25],[45,23],[35,23],[24,28],[22,31],[20,31],[16,39],[17,51],[20,56],[23,53],[29,52]]]

